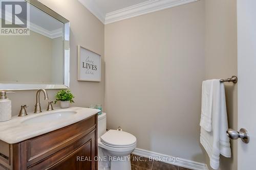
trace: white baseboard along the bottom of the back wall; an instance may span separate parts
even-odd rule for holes
[[[178,161],[174,162],[174,161],[168,161],[166,159],[161,159],[161,158],[175,158],[174,156],[169,156],[169,155],[163,155],[160,153],[156,153],[156,152],[152,152],[152,151],[147,151],[147,150],[143,150],[143,149],[139,149],[136,148],[133,152],[133,154],[138,155],[138,156],[143,156],[146,158],[155,158],[155,159],[159,159],[159,161],[161,162],[165,162],[165,163],[169,163],[169,164],[174,164],[177,166],[181,166],[181,167],[186,167],[189,169],[194,169],[194,170],[208,170],[207,165],[205,163],[200,163],[200,162],[195,162],[195,161],[191,161],[191,160],[187,160],[187,159],[182,159],[179,158]]]

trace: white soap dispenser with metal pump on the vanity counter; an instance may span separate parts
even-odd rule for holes
[[[0,91],[0,122],[10,120],[12,117],[11,100],[7,99],[6,93],[11,91]],[[14,92],[11,92],[14,93]]]

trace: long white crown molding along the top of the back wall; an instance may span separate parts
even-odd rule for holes
[[[107,13],[104,24],[160,11],[199,0],[149,0],[131,7]]]

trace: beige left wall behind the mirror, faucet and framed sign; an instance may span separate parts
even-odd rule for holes
[[[75,95],[74,106],[86,107],[91,103],[103,104],[104,100],[104,25],[78,1],[74,0],[40,0],[52,10],[70,20],[70,89]],[[78,82],[76,78],[77,45],[88,47],[102,55],[102,81]],[[28,104],[29,111],[34,109],[35,90],[16,91],[8,94],[12,100],[12,114],[18,114],[20,105]],[[50,100],[54,100],[57,90],[48,90]],[[46,109],[47,102],[41,94],[41,106]]]

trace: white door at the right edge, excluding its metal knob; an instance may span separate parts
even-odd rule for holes
[[[237,0],[238,127],[250,141],[238,141],[238,170],[256,169],[256,1]]]

